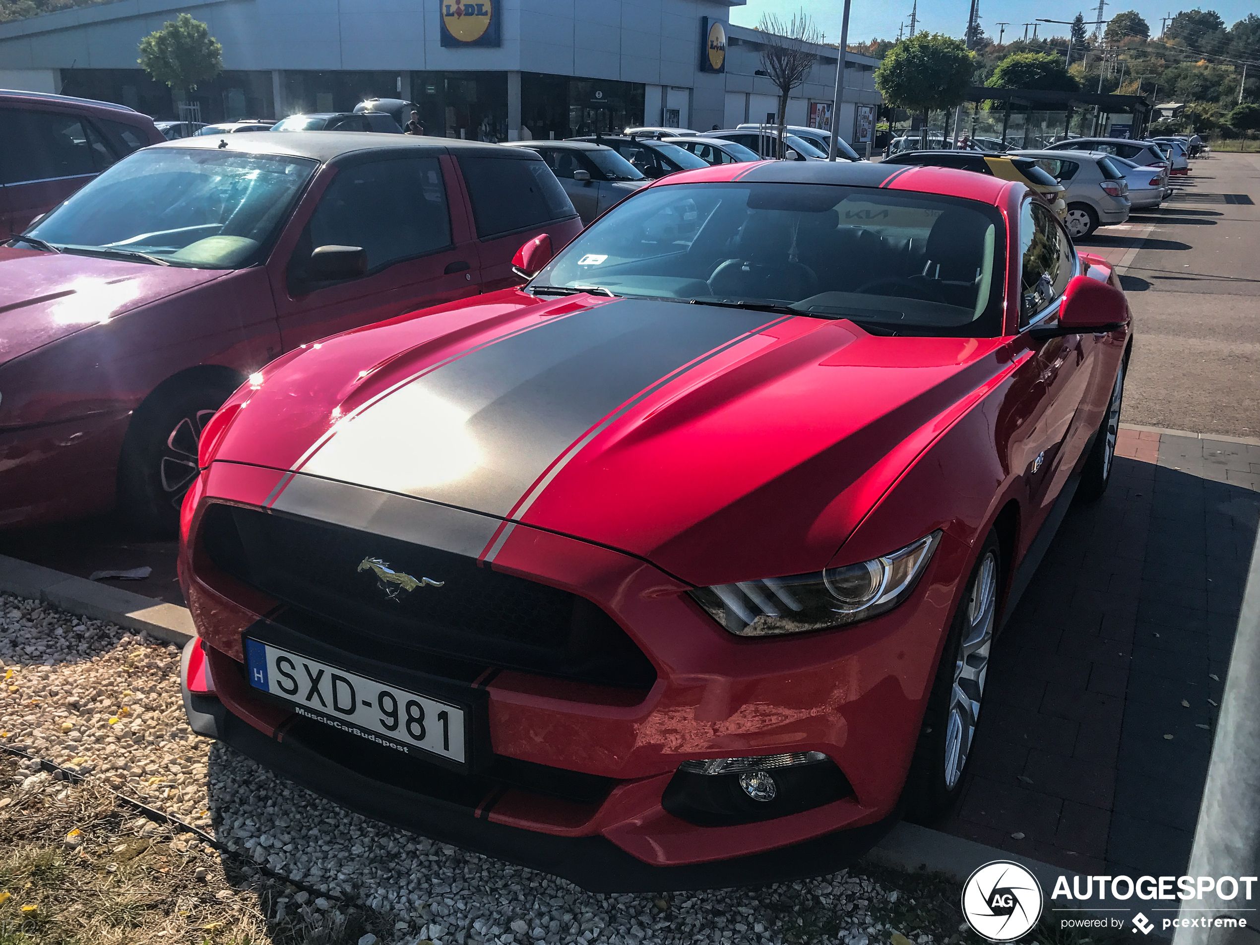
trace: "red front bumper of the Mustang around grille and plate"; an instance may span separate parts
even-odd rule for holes
[[[460,780],[416,762],[422,767],[396,784],[398,766],[391,762],[397,752],[354,736],[334,737],[329,727],[268,702],[244,679],[242,636],[247,630],[257,635],[260,624],[270,622],[263,615],[281,620],[282,614],[276,616],[273,598],[215,568],[198,524],[214,504],[210,496],[262,505],[278,475],[214,464],[192,493],[193,539],[181,549],[180,571],[214,680],[214,696],[197,698],[219,706],[197,702],[190,693],[194,730],[217,733],[260,764],[367,816],[592,890],[696,888],[818,874],[861,856],[896,819],[942,630],[968,566],[968,549],[948,537],[898,609],[844,630],[750,640],[718,627],[687,597],[685,585],[650,564],[518,525],[493,570],[593,601],[651,660],[656,682],[650,690],[626,689],[488,667],[496,674],[471,684],[488,699],[493,770]],[[341,499],[334,504],[348,505]],[[391,512],[377,520],[397,523],[406,514]],[[412,541],[426,543],[423,534]],[[355,663],[363,659],[393,656],[345,650],[340,665],[363,672]],[[848,796],[724,825],[679,819],[663,803],[682,761],[809,751],[838,766]],[[379,752],[389,757],[382,760]],[[495,780],[517,765],[532,766],[542,781]],[[557,788],[572,779],[595,779],[600,786],[588,796]],[[583,864],[567,866],[566,857]]]

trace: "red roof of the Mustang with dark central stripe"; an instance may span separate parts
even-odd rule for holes
[[[746,161],[743,164],[714,164],[711,168],[697,170],[680,170],[653,181],[649,186],[728,181],[839,184],[916,190],[927,194],[963,197],[994,205],[1000,204],[1008,189],[1019,183],[988,174],[976,174],[971,170],[914,164],[886,165],[883,161]],[[1028,190],[1036,193],[1031,186]]]

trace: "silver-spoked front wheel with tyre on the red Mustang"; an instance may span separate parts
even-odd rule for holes
[[[906,780],[907,819],[930,824],[963,793],[998,626],[1002,549],[989,532],[950,624]]]

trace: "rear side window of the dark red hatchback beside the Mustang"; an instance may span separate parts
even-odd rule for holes
[[[566,176],[572,176],[572,151],[544,151],[564,161]],[[460,170],[467,184],[476,234],[481,238],[541,227],[553,219],[577,214],[556,174],[543,161],[519,158],[460,158]]]

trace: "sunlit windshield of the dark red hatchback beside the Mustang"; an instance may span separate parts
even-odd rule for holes
[[[241,268],[271,242],[316,161],[159,147],[136,151],[28,236],[66,252]]]

